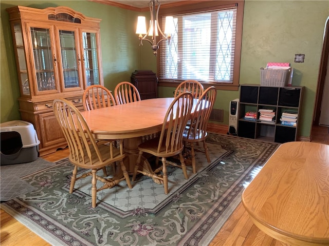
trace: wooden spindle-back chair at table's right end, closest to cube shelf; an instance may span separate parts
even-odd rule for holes
[[[193,173],[196,173],[195,150],[193,145],[195,142],[203,142],[207,161],[210,162],[209,151],[206,144],[206,138],[208,135],[207,126],[211,110],[216,100],[216,94],[216,88],[214,86],[211,86],[208,87],[202,93],[202,95],[199,96],[198,101],[195,105],[194,113],[191,117],[191,122],[193,122],[193,124],[186,126],[185,131],[183,133],[184,142],[189,143],[191,148],[190,154],[192,159]]]

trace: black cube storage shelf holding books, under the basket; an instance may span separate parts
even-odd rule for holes
[[[241,85],[237,135],[279,143],[296,141],[302,97],[303,87]],[[260,121],[260,109],[273,109],[274,121]],[[298,112],[296,126],[281,125],[280,117],[285,110]],[[257,120],[244,119],[248,111],[257,112]]]

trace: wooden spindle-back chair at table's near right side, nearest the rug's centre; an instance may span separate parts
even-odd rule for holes
[[[193,106],[193,96],[190,92],[181,93],[169,106],[165,119],[163,120],[162,129],[158,137],[142,142],[138,146],[139,154],[133,174],[134,181],[137,173],[158,179],[165,187],[165,194],[168,194],[168,174],[167,165],[179,167],[182,169],[184,176],[188,179],[184,158],[182,157],[183,141],[182,133],[184,132],[186,122],[190,117]],[[156,163],[161,157],[162,167],[157,168],[152,173],[142,170],[140,162],[143,153],[149,153],[156,156]],[[180,165],[174,162],[168,162],[167,157],[179,155]],[[162,175],[157,175],[162,170]]]

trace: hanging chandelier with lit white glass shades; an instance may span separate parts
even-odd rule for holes
[[[158,4],[157,9],[155,7],[155,1]],[[138,16],[136,34],[139,34],[138,36],[140,40],[139,45],[143,45],[143,40],[147,40],[151,44],[151,48],[153,50],[154,56],[156,56],[157,50],[159,49],[159,43],[163,40],[170,40],[171,33],[174,32],[174,20],[173,20],[173,16],[166,16],[165,31],[162,32],[158,22],[160,3],[157,0],[151,0],[149,3],[149,8],[151,14],[149,30],[146,31],[145,16]],[[159,33],[160,33],[160,40],[157,42],[156,39]],[[143,36],[143,34],[145,35]],[[152,40],[147,38],[148,35],[152,36]]]

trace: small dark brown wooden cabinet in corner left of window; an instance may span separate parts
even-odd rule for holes
[[[137,87],[142,100],[157,97],[158,78],[151,70],[135,70],[131,83]]]

